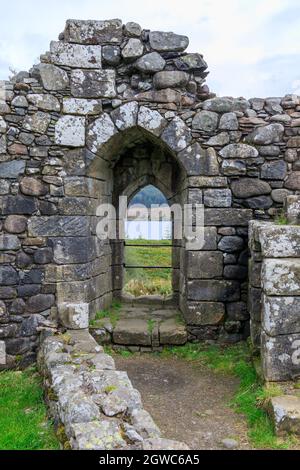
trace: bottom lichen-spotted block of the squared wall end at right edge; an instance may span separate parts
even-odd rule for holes
[[[261,354],[266,380],[281,382],[300,376],[300,333],[271,337],[263,331]]]

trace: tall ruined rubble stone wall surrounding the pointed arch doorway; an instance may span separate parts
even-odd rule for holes
[[[155,181],[180,168],[180,184],[165,184],[171,197],[205,205],[203,250],[183,244],[174,257],[191,338],[248,336],[248,223],[272,218],[300,189],[300,99],[216,98],[203,56],[187,47],[185,36],[134,23],[71,20],[39,65],[3,83],[6,366],[33,360],[40,329],[87,328],[120,292],[122,263],[114,243],[96,237],[96,213],[153,176],[139,148],[156,156]],[[134,152],[142,170],[129,165],[122,186]]]

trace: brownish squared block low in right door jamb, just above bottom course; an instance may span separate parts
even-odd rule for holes
[[[184,312],[188,325],[220,325],[225,319],[225,306],[220,302],[188,302]]]

